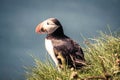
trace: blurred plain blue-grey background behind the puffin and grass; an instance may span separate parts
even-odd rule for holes
[[[41,21],[55,17],[66,35],[83,43],[98,31],[120,30],[120,0],[0,0],[0,80],[25,80],[31,54],[45,60],[46,35],[35,33]]]

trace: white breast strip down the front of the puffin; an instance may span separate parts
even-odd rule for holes
[[[46,47],[46,50],[48,51],[49,55],[52,57],[53,61],[55,62],[56,66],[58,66],[58,61],[54,54],[52,41],[45,39],[45,47]]]

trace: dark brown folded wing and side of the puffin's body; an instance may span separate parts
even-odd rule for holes
[[[53,41],[53,44],[55,56],[57,57],[59,64],[65,63],[70,67],[75,68],[83,66],[85,61],[83,51],[72,39],[67,38],[60,41]]]

